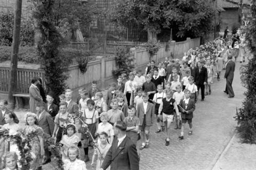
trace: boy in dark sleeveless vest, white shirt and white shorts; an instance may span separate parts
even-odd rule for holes
[[[165,139],[166,146],[170,145],[171,123],[173,122],[174,109],[177,117],[180,118],[179,109],[176,101],[172,98],[172,94],[173,93],[171,90],[166,91],[166,98],[162,100],[158,109],[158,117],[160,117],[161,112],[163,112],[163,122],[165,123],[165,126],[166,126],[166,135],[167,135],[167,138]]]

